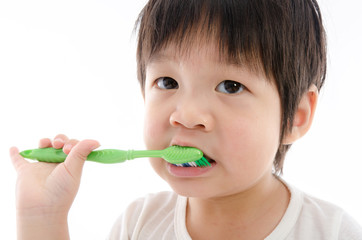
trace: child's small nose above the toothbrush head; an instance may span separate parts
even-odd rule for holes
[[[205,132],[214,128],[214,118],[207,102],[181,100],[170,115],[170,124],[173,127],[197,129]]]

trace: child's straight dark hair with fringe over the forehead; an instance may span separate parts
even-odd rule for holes
[[[213,39],[225,60],[264,71],[275,81],[282,105],[280,145],[274,159],[282,173],[301,96],[326,76],[326,37],[315,0],[150,0],[136,22],[138,80],[144,90],[145,67],[168,44],[187,49],[194,37]]]

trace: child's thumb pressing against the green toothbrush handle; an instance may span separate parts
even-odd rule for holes
[[[80,179],[84,161],[89,153],[99,147],[99,143],[95,140],[83,140],[72,148],[67,159],[64,162],[68,172],[75,178]]]

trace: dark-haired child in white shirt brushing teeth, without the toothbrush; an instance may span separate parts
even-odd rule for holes
[[[174,192],[135,201],[110,239],[362,239],[340,208],[279,177],[325,79],[314,0],[150,0],[138,28],[147,148],[197,147],[212,166],[151,159]],[[58,165],[29,164],[11,149],[19,239],[69,238],[84,160],[98,146],[41,140],[69,154]]]

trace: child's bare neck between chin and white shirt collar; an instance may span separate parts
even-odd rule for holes
[[[206,227],[207,232],[239,232],[239,236],[241,231],[244,236],[248,236],[247,239],[253,237],[246,231],[263,232],[266,237],[283,217],[290,196],[284,184],[273,175],[265,178],[250,189],[229,196],[189,198],[186,224],[190,234],[195,233],[193,229],[204,234],[200,228]],[[212,234],[215,236],[217,233]]]

